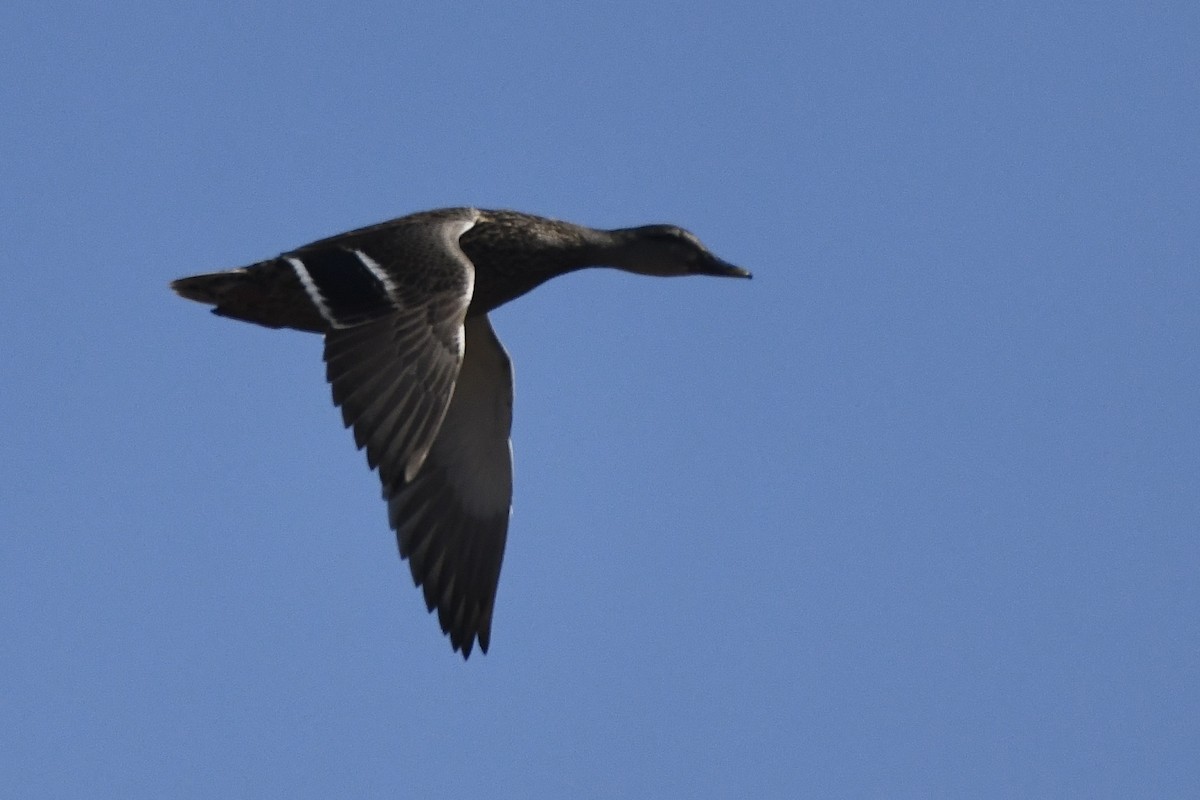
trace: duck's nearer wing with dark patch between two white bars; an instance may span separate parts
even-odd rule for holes
[[[474,267],[458,236],[474,217],[403,224],[286,258],[329,320],[325,371],[384,494],[413,480],[463,359]]]

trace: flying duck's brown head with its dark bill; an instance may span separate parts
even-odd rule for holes
[[[750,272],[713,255],[695,234],[676,225],[642,225],[610,231],[610,261],[640,275],[715,275],[749,278]]]

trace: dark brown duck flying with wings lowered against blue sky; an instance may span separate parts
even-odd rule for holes
[[[676,225],[452,207],[170,288],[220,317],[324,337],[334,403],[378,473],[401,559],[466,660],[491,644],[512,501],[512,366],[488,312],[592,266],[751,277]]]

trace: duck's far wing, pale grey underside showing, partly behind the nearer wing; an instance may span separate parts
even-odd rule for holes
[[[466,337],[425,465],[388,495],[400,554],[464,658],[476,638],[487,652],[512,500],[512,366],[487,317],[468,319]]]

